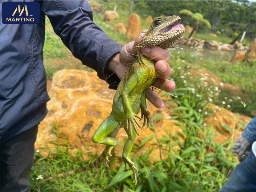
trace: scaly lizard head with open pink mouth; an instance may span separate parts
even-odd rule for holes
[[[157,17],[136,48],[158,46],[163,49],[172,47],[185,32],[180,17]]]

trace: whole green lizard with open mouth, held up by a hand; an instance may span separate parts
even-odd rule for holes
[[[116,146],[116,135],[118,130],[124,127],[125,132],[128,134],[128,140],[124,145],[122,157],[125,168],[126,163],[131,167],[135,177],[135,183],[137,184],[135,170],[138,170],[129,158],[129,154],[132,150],[136,134],[139,135],[137,126],[142,129],[146,122],[147,127],[150,123],[150,112],[147,108],[145,92],[150,85],[154,83],[156,78],[155,61],[142,55],[140,49],[150,46],[159,46],[164,49],[172,47],[185,31],[184,26],[180,24],[180,21],[181,19],[178,16],[157,17],[136,47],[137,57],[117,87],[113,99],[112,112],[100,124],[92,136],[93,142],[107,145],[98,159],[87,167],[82,167],[76,171],[61,173],[42,180],[41,182],[86,171],[104,160],[106,166],[109,167],[108,156],[112,156],[111,151]],[[141,117],[137,115],[140,109]],[[142,118],[144,119],[142,127],[136,117],[140,120]]]

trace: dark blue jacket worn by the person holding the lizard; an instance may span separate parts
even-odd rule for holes
[[[2,15],[2,3],[0,14]],[[121,45],[92,21],[87,1],[39,1],[38,25],[0,24],[1,143],[39,124],[47,114],[46,76],[43,65],[45,15],[55,33],[83,64],[106,79],[107,61]],[[112,87],[117,76],[109,78]]]

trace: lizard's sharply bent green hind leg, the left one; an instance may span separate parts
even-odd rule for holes
[[[120,123],[116,120],[116,118],[110,114],[108,118],[106,118],[100,126],[97,128],[95,133],[92,136],[92,141],[94,143],[100,143],[107,145],[107,153],[105,157],[105,164],[108,166],[108,156],[111,155],[112,149],[116,146],[116,138],[112,137],[112,132],[115,131],[116,129],[118,130]]]

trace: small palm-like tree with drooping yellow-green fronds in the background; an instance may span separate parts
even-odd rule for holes
[[[193,28],[193,30],[190,33],[188,38],[190,38],[193,35],[193,33],[198,29],[199,23],[204,23],[208,28],[211,28],[210,22],[208,20],[204,19],[204,16],[201,13],[192,13],[191,11],[189,11],[187,9],[182,9],[179,11],[179,13],[188,15],[188,16],[192,17],[192,19],[196,20],[195,27]]]

